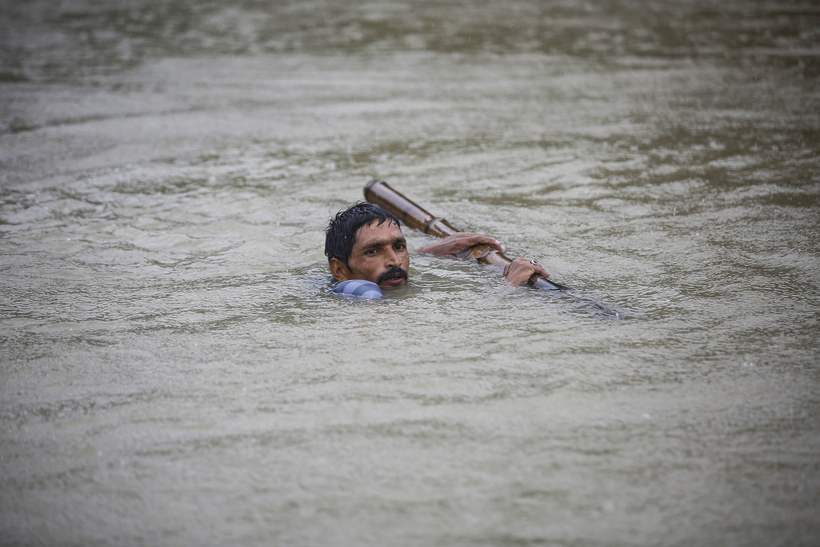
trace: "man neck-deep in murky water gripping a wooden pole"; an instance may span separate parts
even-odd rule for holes
[[[456,258],[460,251],[475,245],[504,250],[491,237],[459,232],[428,243],[418,252]],[[330,273],[339,282],[335,293],[378,298],[382,290],[407,283],[410,255],[401,224],[375,205],[358,203],[339,211],[325,233],[325,254]],[[534,274],[547,277],[541,265],[525,258],[517,258],[504,268],[504,277],[512,285],[525,285]]]

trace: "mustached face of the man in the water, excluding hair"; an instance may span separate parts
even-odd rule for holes
[[[364,279],[382,289],[407,283],[410,255],[404,235],[395,222],[374,221],[359,228],[348,262],[350,269],[338,259],[331,260],[330,270],[337,281]]]

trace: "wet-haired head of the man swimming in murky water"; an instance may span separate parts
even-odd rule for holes
[[[383,289],[407,282],[410,255],[399,220],[375,205],[339,211],[325,233],[325,254],[336,281],[364,279]]]

